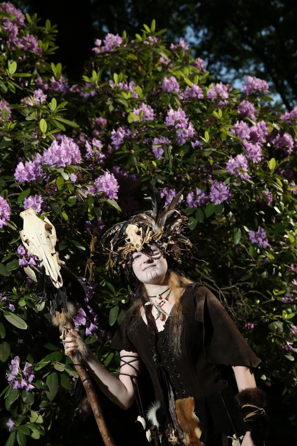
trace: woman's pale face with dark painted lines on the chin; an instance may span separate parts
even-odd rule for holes
[[[150,250],[152,258],[147,256],[143,251],[133,252],[133,271],[142,283],[158,283],[167,273],[167,261],[163,256],[154,260],[155,257],[160,256],[159,248],[156,245],[149,244],[147,245],[147,249]]]

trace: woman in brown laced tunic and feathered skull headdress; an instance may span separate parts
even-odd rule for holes
[[[103,237],[115,234],[114,263],[135,294],[110,345],[120,352],[119,379],[90,351],[85,366],[123,409],[136,397],[144,423],[137,380],[145,364],[156,400],[146,413],[151,444],[263,446],[265,398],[252,373],[260,359],[211,291],[184,277],[181,243],[191,244],[181,234],[186,218],[174,209],[182,191],[165,207],[159,192],[149,190],[153,211]],[[79,337],[71,330],[65,338],[66,355],[78,347],[73,335]]]

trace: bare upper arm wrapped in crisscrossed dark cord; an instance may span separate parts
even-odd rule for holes
[[[139,376],[140,357],[136,349],[121,350],[120,356],[121,356],[120,376],[118,379],[124,384],[128,392],[132,395],[134,394],[134,390],[130,376]]]

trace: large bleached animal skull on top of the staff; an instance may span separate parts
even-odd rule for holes
[[[45,273],[50,277],[53,285],[61,288],[63,281],[55,251],[57,242],[55,227],[46,217],[44,220],[38,218],[33,207],[21,212],[20,216],[24,219],[24,229],[20,231],[24,247],[42,260]]]

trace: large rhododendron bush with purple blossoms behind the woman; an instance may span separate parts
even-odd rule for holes
[[[167,195],[167,204],[184,186],[178,206],[194,246],[183,269],[222,301],[262,360],[257,382],[272,401],[282,399],[278,417],[293,420],[297,109],[274,109],[265,80],[247,76],[239,91],[212,78],[182,38],[167,43],[154,21],[135,36],[97,39],[74,84],[63,61],[55,61],[57,30],[49,21],[43,26],[8,2],[0,17],[7,444],[22,446],[29,436],[56,444],[59,423],[65,443],[81,412],[73,401],[77,374],[45,302],[35,296],[40,261],[21,244],[20,212],[33,207],[53,222],[60,259],[89,287],[85,301],[94,323],[79,307],[75,323],[116,374],[109,341],[133,296],[116,273],[110,279],[100,235],[150,208],[146,181]]]

